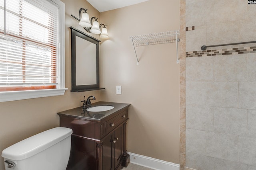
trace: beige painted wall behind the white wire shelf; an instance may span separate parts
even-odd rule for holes
[[[128,152],[179,163],[176,43],[136,47],[129,36],[180,28],[179,0],[150,0],[100,13],[110,39],[100,49],[102,100],[130,103]],[[122,94],[116,94],[116,86]]]

